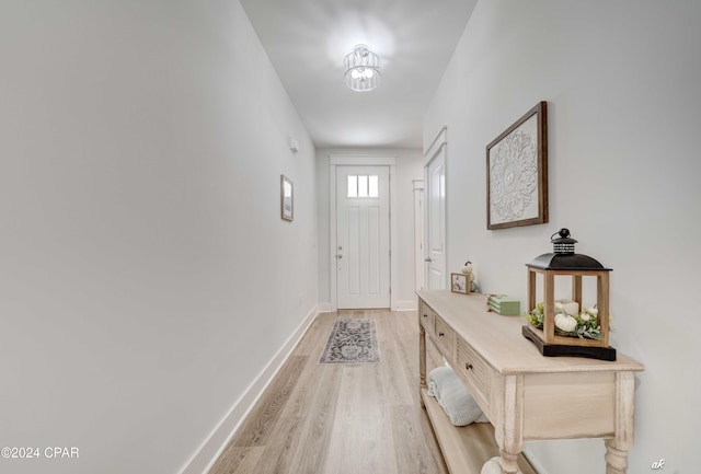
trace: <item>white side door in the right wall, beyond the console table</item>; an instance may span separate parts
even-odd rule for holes
[[[444,290],[446,276],[446,147],[425,167],[426,174],[426,288]]]

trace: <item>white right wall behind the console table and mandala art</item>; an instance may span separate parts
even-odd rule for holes
[[[449,130],[451,268],[525,302],[524,264],[562,227],[613,268],[611,345],[646,367],[630,473],[698,464],[700,44],[699,2],[480,1],[425,117],[425,141]],[[487,231],[485,147],[541,100],[550,223]],[[598,440],[528,450],[541,474],[605,471]]]

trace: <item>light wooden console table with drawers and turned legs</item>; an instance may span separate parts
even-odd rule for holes
[[[621,354],[614,362],[543,357],[521,335],[525,320],[487,312],[484,296],[416,294],[422,405],[452,474],[475,470],[464,462],[470,448],[463,428],[440,421],[446,417],[436,416],[437,404],[426,394],[426,337],[494,426],[503,473],[517,472],[525,440],[567,438],[602,438],[607,474],[625,473],[633,446],[634,372],[643,366]]]

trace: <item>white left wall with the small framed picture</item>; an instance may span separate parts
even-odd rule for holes
[[[314,312],[313,144],[238,1],[4,0],[0,58],[0,446],[80,450],[0,471],[179,472]]]

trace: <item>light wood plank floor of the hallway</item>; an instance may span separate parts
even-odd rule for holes
[[[336,317],[376,321],[379,363],[319,363]],[[320,314],[209,472],[233,473],[447,474],[418,402],[416,313]]]

